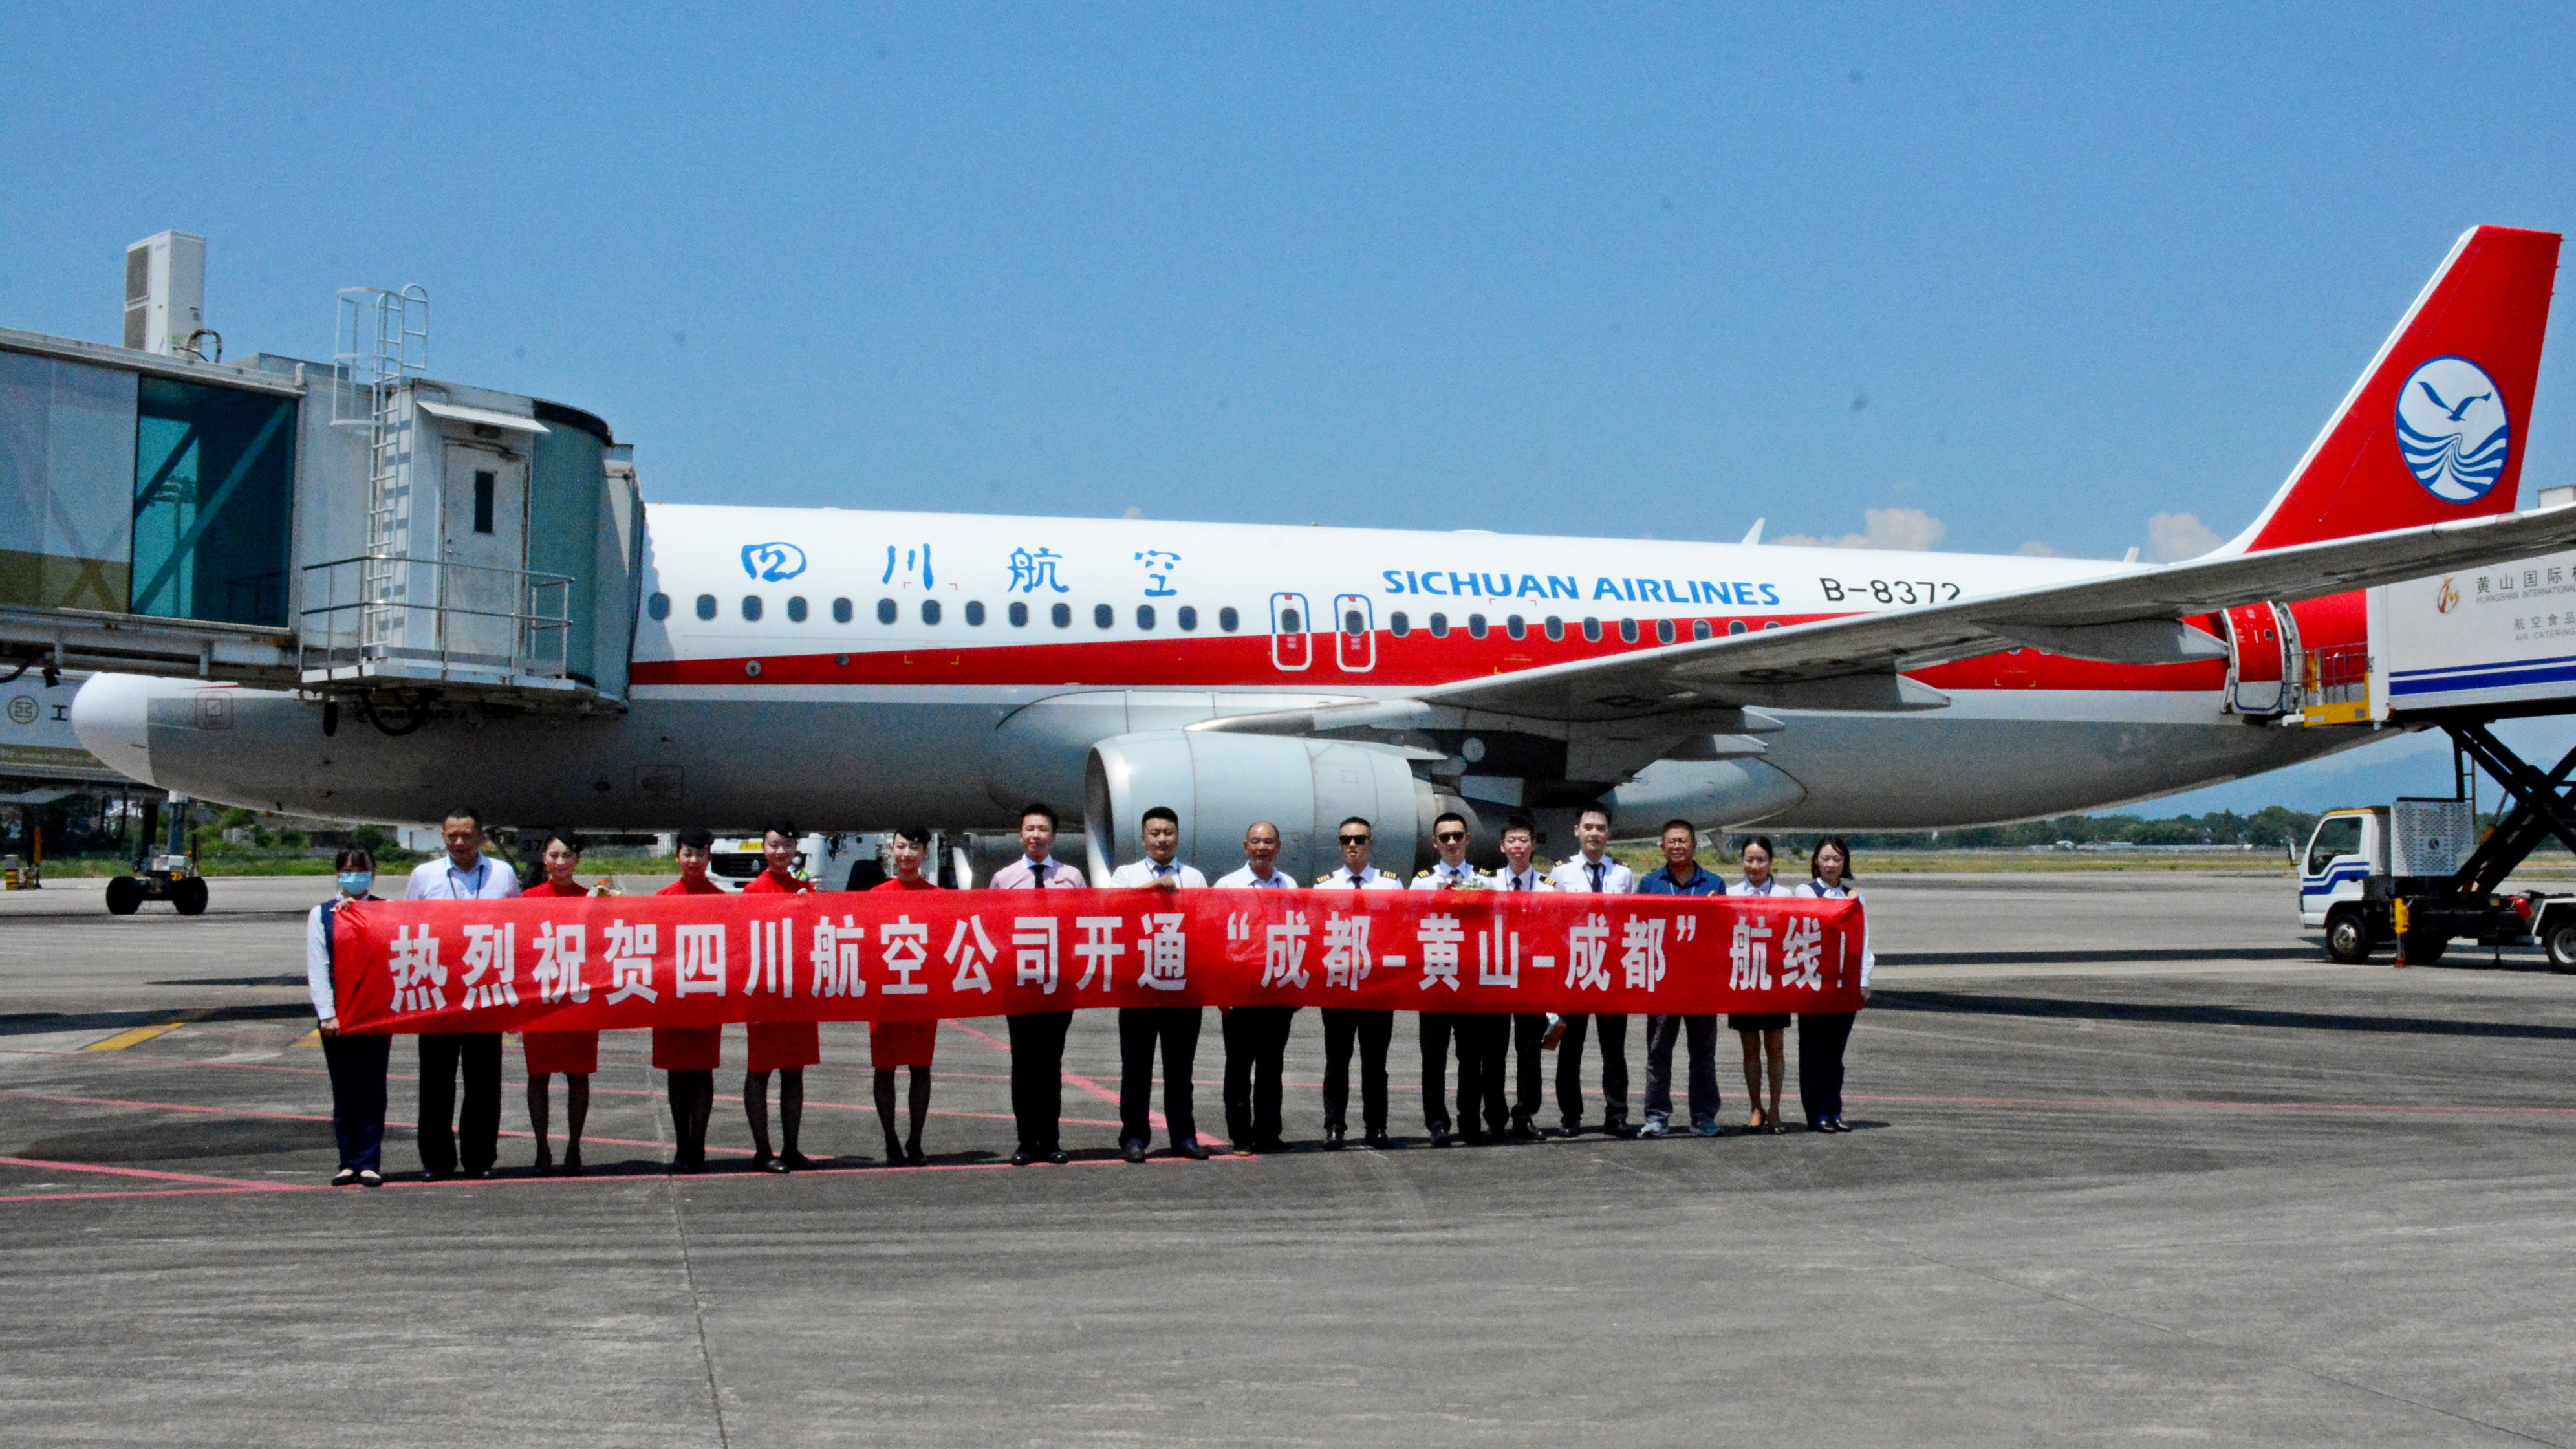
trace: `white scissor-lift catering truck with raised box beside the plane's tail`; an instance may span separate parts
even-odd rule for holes
[[[2553,487],[2543,505],[2576,503]],[[2506,877],[2555,838],[2576,851],[2576,750],[2537,768],[2491,724],[2576,712],[2576,552],[2391,583],[2367,590],[2367,645],[2303,660],[2311,730],[2442,730],[2452,740],[2452,799],[2331,810],[2300,859],[2298,915],[2326,931],[2326,954],[2362,962],[2396,946],[2434,962],[2450,941],[2537,944],[2576,972],[2576,895],[2504,892]],[[2476,776],[2504,789],[2478,830]]]

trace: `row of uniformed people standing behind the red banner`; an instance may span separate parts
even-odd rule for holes
[[[1504,869],[1479,871],[1468,864],[1471,825],[1463,815],[1440,815],[1432,825],[1437,861],[1404,882],[1370,864],[1376,830],[1363,817],[1342,820],[1334,843],[1342,866],[1314,882],[1314,890],[1546,890],[1600,895],[1816,895],[1857,897],[1852,851],[1829,838],[1808,856],[1808,879],[1788,884],[1772,874],[1772,843],[1744,843],[1739,882],[1726,882],[1698,864],[1698,830],[1672,820],[1662,830],[1664,866],[1638,877],[1610,859],[1610,815],[1584,810],[1577,822],[1579,851],[1553,869],[1535,864],[1538,833],[1530,820],[1512,817],[1502,828]],[[1141,820],[1144,859],[1121,866],[1110,884],[1139,890],[1195,890],[1208,879],[1182,864],[1180,815],[1154,807]],[[443,822],[446,853],[422,861],[404,882],[404,900],[492,900],[513,895],[598,895],[611,887],[582,887],[582,841],[572,830],[551,830],[541,848],[541,877],[520,890],[510,866],[484,853],[484,828],[474,810],[459,810]],[[1020,812],[1020,859],[1002,866],[987,890],[1087,887],[1090,879],[1054,859],[1056,812],[1030,804]],[[1242,869],[1216,884],[1229,890],[1291,890],[1298,882],[1278,869],[1280,833],[1262,820],[1244,830]],[[708,879],[714,835],[683,830],[677,843],[680,879],[659,895],[719,895]],[[922,874],[930,856],[927,830],[894,833],[894,877],[876,890],[938,890]],[[332,985],[332,913],[350,900],[379,900],[374,859],[343,851],[337,859],[340,895],[317,905],[307,926],[307,977],[319,1016],[322,1055],[332,1083],[332,1129],[340,1140],[335,1186],[376,1186],[381,1176],[389,1036],[340,1031]],[[796,874],[796,828],[773,822],[762,835],[762,871],[744,892],[814,890]],[[1860,987],[1870,990],[1870,954],[1862,951]],[[1226,1142],[1236,1152],[1288,1152],[1280,1116],[1283,1062],[1298,1008],[1236,1006],[1218,1008],[1224,1031],[1224,1114]],[[1360,1062],[1360,1140],[1391,1147],[1388,1070],[1396,1013],[1363,1008],[1321,1008],[1324,1018],[1324,1150],[1340,1150],[1350,1132],[1350,1067]],[[1010,1029],[1010,1111],[1018,1127],[1015,1165],[1064,1163],[1064,1042],[1072,1011],[1038,1011],[1007,1018]],[[1162,1065],[1162,1116],[1172,1152],[1208,1158],[1198,1140],[1193,1067],[1206,1021],[1195,1006],[1146,1006],[1118,1011],[1118,1150],[1128,1163],[1144,1163],[1154,1142],[1154,1067]],[[1780,1096],[1788,1016],[1731,1013],[1726,1018],[1744,1049],[1744,1091],[1749,1116],[1744,1132],[1783,1132]],[[1852,1034],[1852,1013],[1803,1013],[1798,1026],[1798,1098],[1811,1132],[1847,1132],[1842,1122],[1842,1057]],[[1610,1137],[1664,1137],[1685,1127],[1672,1122],[1672,1052],[1687,1052],[1687,1132],[1721,1137],[1718,1122],[1718,1018],[1646,1016],[1643,1122],[1628,1119],[1628,1018],[1625,1016],[1497,1016],[1497,1013],[1419,1013],[1422,1039],[1422,1116],[1432,1147],[1453,1142],[1574,1137],[1587,1129],[1584,1044],[1597,1042],[1600,1132]],[[930,1065],[938,1024],[868,1024],[868,1055],[876,1073],[876,1114],[886,1134],[889,1165],[920,1165],[922,1122],[930,1114]],[[598,1070],[598,1031],[526,1031],[528,1127],[536,1137],[538,1173],[577,1173],[582,1168],[582,1127],[590,1111],[590,1075]],[[755,1021],[747,1029],[750,1062],[742,1080],[742,1109],[752,1134],[755,1171],[799,1171],[814,1165],[801,1150],[804,1070],[822,1060],[822,1034],[814,1024]],[[428,1178],[479,1178],[500,1152],[500,1034],[422,1034],[420,1036],[420,1168]],[[1538,1127],[1546,1091],[1546,1052],[1556,1052],[1556,1127]],[[654,1026],[652,1065],[665,1075],[677,1150],[672,1171],[706,1168],[706,1129],[716,1104],[724,1031],[719,1026]],[[1517,1073],[1512,1060],[1517,1057]],[[1455,1093],[1450,1065],[1455,1062]],[[896,1080],[909,1073],[907,1129],[896,1132]],[[564,1155],[551,1147],[551,1080],[564,1078]],[[778,1140],[770,1140],[770,1078],[778,1078]],[[459,1080],[464,1101],[459,1106]],[[1507,1091],[1510,1088],[1510,1091]],[[1455,1106],[1455,1111],[1453,1111]]]

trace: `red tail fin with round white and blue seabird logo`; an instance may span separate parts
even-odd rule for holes
[[[2555,276],[2555,232],[2460,237],[2290,482],[2221,552],[2512,513]]]

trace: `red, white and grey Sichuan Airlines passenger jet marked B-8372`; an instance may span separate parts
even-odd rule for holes
[[[1484,531],[657,505],[629,709],[325,737],[242,688],[222,732],[100,676],[82,743],[193,797],[337,817],[1010,830],[1084,817],[1092,866],[1172,804],[1229,866],[1283,825],[1427,853],[1463,807],[1561,848],[1651,830],[1932,828],[2094,810],[2367,737],[2282,727],[2360,588],[2576,544],[2512,513],[2558,237],[2460,237],[2280,495],[2208,557],[2128,565]]]

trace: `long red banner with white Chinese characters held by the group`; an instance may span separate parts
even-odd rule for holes
[[[930,1021],[1084,1006],[1860,1011],[1857,900],[940,890],[350,902],[345,1031]]]

